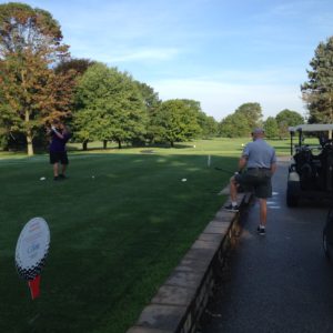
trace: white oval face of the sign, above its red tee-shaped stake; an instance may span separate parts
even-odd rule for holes
[[[49,246],[50,230],[46,220],[30,220],[21,231],[16,249],[16,265],[23,279],[32,280],[40,273]]]

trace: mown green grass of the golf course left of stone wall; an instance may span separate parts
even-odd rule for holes
[[[235,170],[241,142],[71,153],[61,182],[47,155],[1,159],[0,332],[125,332],[223,204],[214,167]],[[31,301],[14,250],[34,216],[51,246]]]

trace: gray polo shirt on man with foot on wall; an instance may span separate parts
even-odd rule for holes
[[[243,150],[242,157],[248,160],[248,169],[271,169],[271,165],[276,163],[275,150],[262,139],[249,142]]]

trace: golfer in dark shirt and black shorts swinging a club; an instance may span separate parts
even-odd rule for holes
[[[49,133],[51,135],[50,163],[53,164],[53,180],[63,180],[65,179],[65,170],[69,164],[65,143],[71,138],[71,134],[68,128],[58,120],[52,122]],[[60,174],[59,163],[61,163]]]

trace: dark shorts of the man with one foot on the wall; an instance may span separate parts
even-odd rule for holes
[[[272,171],[270,169],[248,169],[234,176],[236,183],[245,189],[253,189],[256,198],[272,196]]]

